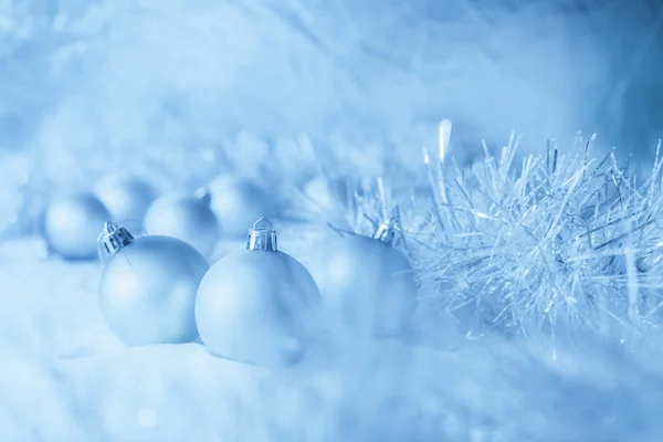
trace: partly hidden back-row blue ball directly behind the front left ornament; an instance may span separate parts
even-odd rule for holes
[[[151,203],[144,219],[148,234],[177,238],[210,256],[221,238],[221,227],[209,197],[169,193]]]

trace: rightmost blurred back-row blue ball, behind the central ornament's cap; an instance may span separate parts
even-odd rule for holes
[[[276,214],[274,197],[251,181],[221,176],[209,183],[208,190],[211,208],[227,236],[242,238],[246,234],[246,225],[261,217]]]

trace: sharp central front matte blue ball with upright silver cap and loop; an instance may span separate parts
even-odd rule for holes
[[[212,355],[282,368],[308,349],[319,306],[308,271],[278,251],[272,224],[260,219],[249,231],[246,250],[225,255],[202,278],[196,323]]]

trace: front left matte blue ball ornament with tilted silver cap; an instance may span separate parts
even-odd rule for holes
[[[209,269],[204,257],[176,238],[134,238],[110,223],[99,243],[108,256],[99,307],[117,337],[129,347],[193,341],[196,292]]]

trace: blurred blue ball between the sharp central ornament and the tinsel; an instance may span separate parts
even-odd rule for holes
[[[309,269],[339,332],[373,338],[398,338],[408,332],[417,284],[408,260],[390,241],[339,238]]]

